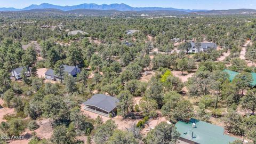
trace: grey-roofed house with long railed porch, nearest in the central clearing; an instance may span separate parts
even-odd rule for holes
[[[93,113],[109,117],[110,114],[115,116],[117,113],[118,99],[105,94],[95,94],[93,97],[83,103],[84,109]]]

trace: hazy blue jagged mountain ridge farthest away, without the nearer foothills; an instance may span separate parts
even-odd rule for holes
[[[15,9],[13,7],[2,7],[0,11],[26,11],[26,10],[33,10],[33,9],[58,9],[62,11],[71,11],[76,9],[87,9],[87,10],[117,10],[117,11],[185,11],[185,12],[198,12],[198,11],[207,11],[207,10],[184,10],[184,9],[174,9],[172,7],[132,7],[126,4],[80,4],[80,5],[73,5],[73,6],[59,6],[59,5],[52,5],[48,3],[43,3],[40,5],[30,5],[23,9]]]

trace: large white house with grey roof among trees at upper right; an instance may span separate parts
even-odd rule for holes
[[[195,42],[190,42],[191,44],[191,49],[188,51],[189,53],[198,53],[198,52],[205,52],[209,49],[217,49],[217,44],[215,43],[201,43],[198,47],[196,47]]]

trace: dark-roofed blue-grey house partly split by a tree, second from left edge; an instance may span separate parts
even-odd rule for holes
[[[62,65],[64,67],[63,72],[71,75],[73,77],[76,77],[76,75],[78,73],[81,73],[81,69],[78,68],[78,66],[68,66],[68,65]],[[59,80],[60,77],[58,75],[55,75],[54,70],[53,69],[48,69],[45,72],[45,78],[46,79],[51,79],[51,80]],[[63,78],[62,78],[63,79]]]

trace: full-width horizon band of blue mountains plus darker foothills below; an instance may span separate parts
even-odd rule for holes
[[[59,6],[48,3],[40,5],[30,5],[23,9],[15,9],[13,7],[2,7],[0,12],[50,12],[58,14],[83,14],[87,13],[97,15],[109,15],[109,14],[158,14],[158,15],[181,15],[181,14],[197,14],[197,15],[220,15],[220,14],[256,14],[256,10],[252,9],[235,9],[235,10],[185,10],[174,9],[172,7],[132,7],[126,4],[80,4],[73,6]]]

